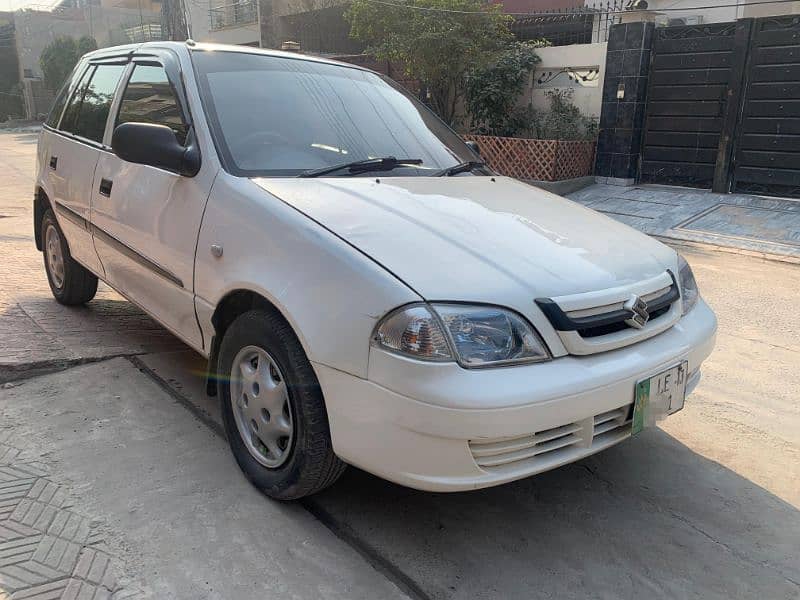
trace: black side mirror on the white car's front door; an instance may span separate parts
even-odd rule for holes
[[[123,123],[114,129],[111,149],[122,160],[194,177],[200,171],[200,150],[191,137],[181,146],[166,125]]]

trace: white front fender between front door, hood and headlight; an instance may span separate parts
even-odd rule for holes
[[[324,201],[324,199],[321,199]],[[217,257],[211,246],[223,248]],[[204,337],[229,293],[253,291],[294,329],[312,362],[366,377],[372,331],[389,310],[421,298],[353,246],[247,179],[220,174],[195,259]]]

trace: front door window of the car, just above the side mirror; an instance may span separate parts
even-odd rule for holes
[[[166,125],[181,144],[186,143],[186,124],[164,67],[134,68],[122,95],[117,125],[130,122]]]

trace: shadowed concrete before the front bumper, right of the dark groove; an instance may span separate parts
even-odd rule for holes
[[[659,430],[435,494],[350,469],[313,506],[431,598],[796,598],[800,514]]]

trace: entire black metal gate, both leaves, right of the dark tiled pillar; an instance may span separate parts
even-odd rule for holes
[[[800,17],[656,29],[639,175],[800,197]]]

